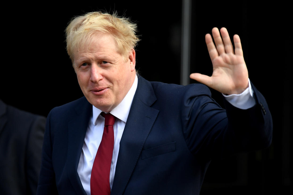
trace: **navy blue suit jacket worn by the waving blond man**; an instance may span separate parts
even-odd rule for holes
[[[212,158],[269,146],[272,118],[264,97],[253,90],[253,108],[226,102],[225,111],[205,85],[140,77],[111,194],[199,194]],[[77,166],[91,112],[82,97],[49,113],[37,194],[85,194]]]

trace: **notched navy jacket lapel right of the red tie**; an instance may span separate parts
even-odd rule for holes
[[[112,194],[123,194],[159,110],[151,83],[140,77],[120,141]]]

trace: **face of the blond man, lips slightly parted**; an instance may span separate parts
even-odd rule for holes
[[[135,51],[121,56],[110,34],[95,34],[74,53],[74,70],[81,91],[96,108],[110,112],[126,96],[135,78]]]

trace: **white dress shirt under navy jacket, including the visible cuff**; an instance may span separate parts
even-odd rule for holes
[[[249,87],[241,94],[224,95],[226,100],[233,106],[241,109],[248,109],[255,105],[255,99],[253,98],[253,91],[251,89],[250,81]],[[110,113],[117,117],[114,128],[114,149],[110,168],[110,188],[112,189],[113,180],[115,176],[115,168],[119,153],[119,144],[124,131],[124,127],[128,118],[132,100],[137,89],[138,79],[135,76],[135,80],[126,94],[124,99],[116,108]],[[100,115],[102,111],[93,106],[93,113],[88,123],[86,130],[86,137],[84,138],[84,145],[82,147],[77,172],[81,180],[82,186],[86,191],[86,194],[91,194],[91,170],[93,162],[96,157],[100,142],[102,140],[105,118]]]

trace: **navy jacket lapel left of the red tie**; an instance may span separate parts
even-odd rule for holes
[[[84,98],[83,102],[75,108],[75,111],[76,115],[68,123],[67,175],[77,194],[86,195],[77,173],[77,166],[91,116],[92,105]]]

